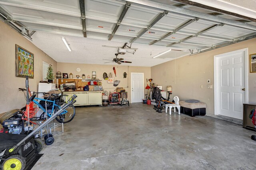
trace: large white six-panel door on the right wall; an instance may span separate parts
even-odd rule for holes
[[[245,51],[216,57],[216,109],[218,115],[243,119],[245,93]],[[247,89],[246,89],[247,90]]]

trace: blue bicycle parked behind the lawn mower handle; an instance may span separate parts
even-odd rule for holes
[[[19,91],[26,91],[24,88],[19,88]],[[24,93],[25,94],[25,93]],[[63,102],[62,100],[62,93],[60,94],[49,94],[48,97],[41,99],[36,98],[37,94],[43,94],[44,96],[48,93],[44,92],[33,92],[33,95],[29,98],[29,102],[34,102],[40,109],[42,109],[43,113],[40,115],[40,117],[33,117],[33,121],[39,121],[39,120],[45,120],[46,116],[51,117],[54,113],[56,113],[58,110],[62,108],[66,104],[66,102]],[[40,100],[40,102],[38,102]],[[46,104],[46,106],[45,106]],[[47,108],[47,111],[46,111]],[[22,111],[26,110],[26,107],[23,107],[21,109]],[[45,115],[46,114],[46,115]],[[55,119],[60,123],[68,123],[74,119],[74,116],[76,114],[76,110],[74,105],[70,105],[68,108],[66,108],[60,115],[58,115]]]

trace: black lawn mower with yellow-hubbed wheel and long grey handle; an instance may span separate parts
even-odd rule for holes
[[[74,104],[76,97],[74,94],[66,105],[33,131],[30,131],[28,135],[0,133],[0,166],[2,170],[24,170],[26,162],[31,162],[36,153],[40,152],[44,146],[41,139],[34,139],[34,134],[48,125],[64,109]]]

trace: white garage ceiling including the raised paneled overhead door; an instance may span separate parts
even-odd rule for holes
[[[0,0],[0,12],[2,20],[58,62],[103,64],[102,59],[114,58],[117,49],[102,45],[122,47],[127,42],[138,50],[122,55],[133,61],[126,65],[153,66],[256,37],[255,18],[244,16],[255,13],[255,2],[246,9],[240,1],[228,1],[227,6],[242,9],[235,16],[231,7],[229,13],[221,10],[220,3],[227,2],[218,2],[216,12],[188,0]],[[67,52],[61,37],[72,52]],[[90,48],[84,54],[86,44]]]

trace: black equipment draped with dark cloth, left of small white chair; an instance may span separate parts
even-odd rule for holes
[[[168,96],[169,100],[170,96]],[[153,87],[152,89],[152,99],[156,100],[156,105],[153,109],[158,113],[162,113],[162,109],[165,109],[166,104],[174,104],[173,102],[169,102],[161,95],[161,90],[158,87]]]

